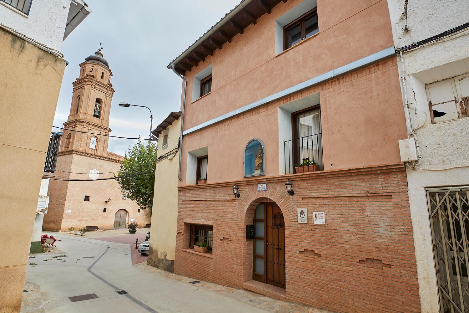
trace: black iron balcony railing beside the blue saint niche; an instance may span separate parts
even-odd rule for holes
[[[314,134],[283,142],[285,175],[324,169],[322,134]]]

